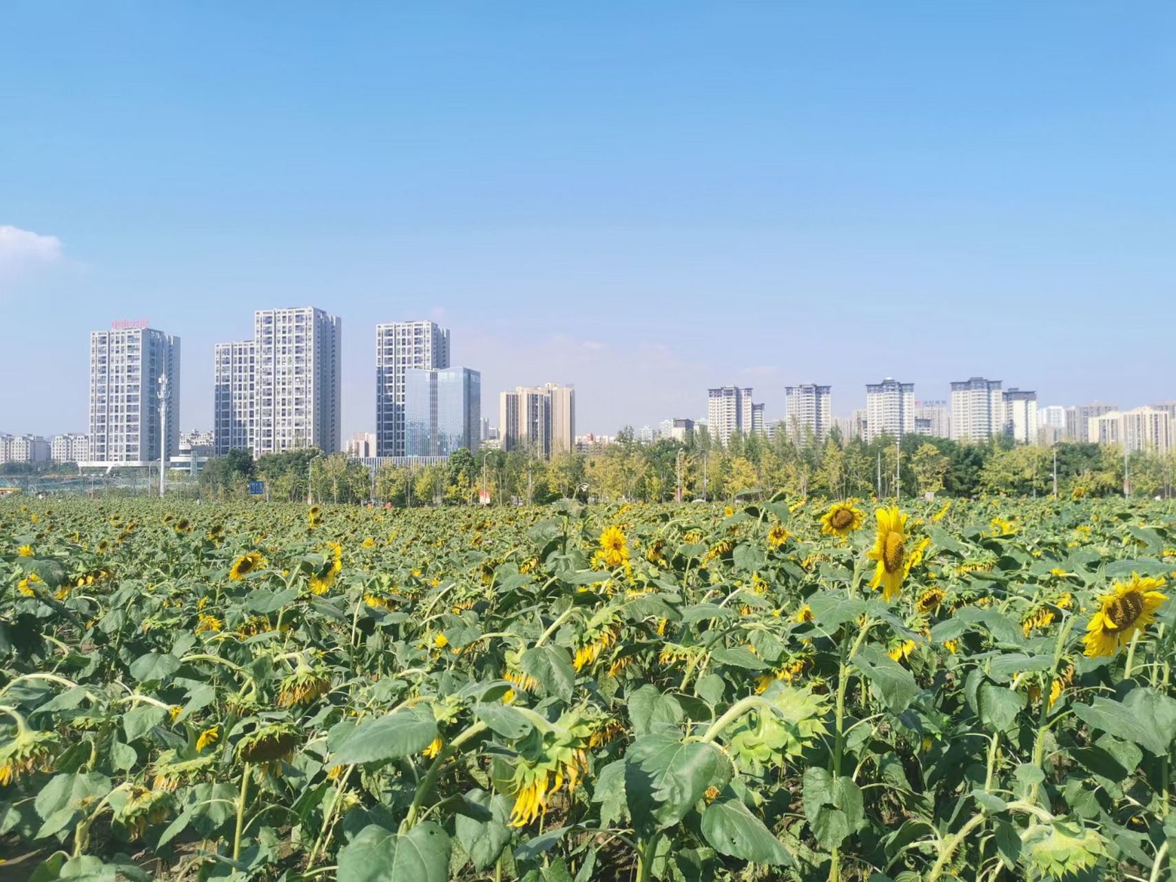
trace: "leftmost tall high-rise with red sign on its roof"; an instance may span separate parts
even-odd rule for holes
[[[160,377],[167,376],[167,437],[160,437]],[[116,321],[89,335],[91,466],[149,466],[180,447],[180,338]]]

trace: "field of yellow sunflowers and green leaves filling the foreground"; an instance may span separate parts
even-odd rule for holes
[[[0,870],[1170,880],[1174,529],[7,500]]]

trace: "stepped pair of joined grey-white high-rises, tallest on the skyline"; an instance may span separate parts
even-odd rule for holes
[[[213,434],[255,457],[341,442],[342,320],[314,307],[258,309],[253,340],[218,343]]]

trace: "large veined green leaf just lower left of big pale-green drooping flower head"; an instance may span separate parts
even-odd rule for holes
[[[683,743],[670,735],[637,739],[624,756],[624,793],[635,821],[653,818],[673,827],[694,808],[708,787],[730,779],[730,762],[714,744]]]

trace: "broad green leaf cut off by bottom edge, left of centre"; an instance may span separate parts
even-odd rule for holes
[[[432,821],[407,834],[368,824],[339,851],[339,882],[448,882],[449,837]]]

